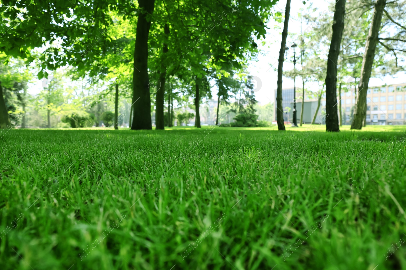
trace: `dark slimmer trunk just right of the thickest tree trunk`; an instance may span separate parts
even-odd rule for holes
[[[166,23],[164,26],[165,40],[168,40],[169,26]],[[159,76],[160,89],[156,92],[155,102],[155,125],[157,130],[165,129],[164,119],[164,97],[165,97],[165,82],[166,82],[166,53],[168,52],[168,45],[164,42],[162,48],[161,72]],[[165,70],[165,71],[164,71]]]

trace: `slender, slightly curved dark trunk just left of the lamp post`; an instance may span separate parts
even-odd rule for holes
[[[282,108],[282,75],[283,75],[283,61],[285,57],[287,25],[289,23],[290,0],[286,1],[285,9],[285,22],[283,23],[281,50],[279,51],[278,60],[278,88],[276,90],[276,122],[278,123],[278,130],[285,130],[283,123],[283,108]]]

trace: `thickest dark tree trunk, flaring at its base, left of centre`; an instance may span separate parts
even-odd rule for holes
[[[137,101],[134,106],[132,130],[151,130],[151,96],[148,76],[148,35],[155,0],[138,0],[139,12],[134,49],[133,96]],[[138,102],[138,99],[139,102]]]

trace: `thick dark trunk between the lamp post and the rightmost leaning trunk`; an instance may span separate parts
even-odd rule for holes
[[[328,51],[326,74],[326,130],[330,132],[340,131],[337,114],[337,60],[343,36],[345,10],[346,1],[339,0],[335,3],[333,35]]]

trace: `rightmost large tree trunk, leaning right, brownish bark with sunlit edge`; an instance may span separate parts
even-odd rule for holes
[[[379,41],[378,35],[385,5],[386,0],[377,0],[375,3],[371,28],[369,28],[367,43],[365,44],[365,53],[361,68],[361,79],[359,80],[358,95],[355,102],[354,117],[351,123],[351,129],[360,130],[367,113],[368,83],[369,78],[371,77],[372,64],[374,63],[376,44]]]

